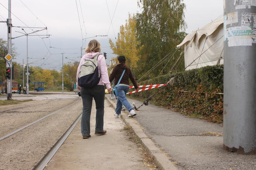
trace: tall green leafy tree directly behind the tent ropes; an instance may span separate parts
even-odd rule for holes
[[[139,0],[142,13],[137,14],[137,39],[140,42],[141,63],[140,74],[150,70],[168,53],[175,51],[176,45],[185,37],[185,21],[183,0]],[[152,71],[151,76],[157,76],[163,67],[163,74],[170,71],[181,50]],[[179,68],[181,70],[181,68]]]

